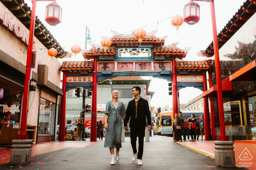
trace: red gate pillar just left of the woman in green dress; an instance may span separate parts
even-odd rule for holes
[[[91,106],[91,142],[97,141],[97,57],[93,58],[93,96],[92,96],[92,106]]]

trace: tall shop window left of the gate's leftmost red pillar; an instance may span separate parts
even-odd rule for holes
[[[41,98],[39,107],[38,135],[52,135],[54,103]]]

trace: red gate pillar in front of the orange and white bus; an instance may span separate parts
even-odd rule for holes
[[[173,96],[173,119],[175,114],[178,114],[178,90],[177,90],[177,75],[176,75],[176,57],[172,58],[172,96]],[[178,135],[177,135],[178,137]],[[174,140],[174,131],[173,131],[173,140]],[[177,140],[177,139],[176,139]]]

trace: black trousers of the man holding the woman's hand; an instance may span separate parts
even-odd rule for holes
[[[131,130],[131,144],[132,144],[133,154],[136,154],[137,152],[136,141],[137,141],[137,136],[139,135],[139,151],[138,151],[137,159],[142,159],[145,127],[136,126],[136,127],[131,127],[130,130]]]

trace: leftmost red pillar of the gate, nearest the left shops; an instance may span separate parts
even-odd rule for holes
[[[59,130],[59,141],[65,141],[65,124],[66,124],[66,100],[67,100],[67,91],[66,91],[67,75],[63,71],[62,79],[62,90],[63,96],[61,97],[61,107],[60,107],[60,130]]]

